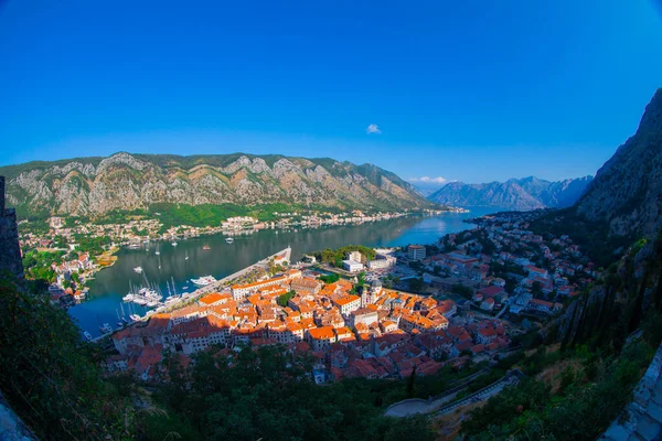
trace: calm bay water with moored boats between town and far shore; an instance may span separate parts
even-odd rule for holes
[[[306,252],[324,248],[338,248],[349,244],[370,247],[393,247],[408,244],[431,244],[439,237],[468,229],[466,218],[482,216],[490,208],[474,208],[471,213],[448,213],[439,216],[410,216],[363,225],[329,226],[298,232],[264,229],[252,235],[235,237],[232,245],[225,236],[204,236],[179,240],[173,247],[168,241],[152,243],[148,248],[121,249],[117,262],[96,275],[87,301],[70,309],[70,314],[78,321],[84,331],[99,335],[99,323],[113,327],[121,314],[121,298],[129,290],[129,281],[140,284],[142,276],[134,271],[142,267],[150,282],[158,283],[168,295],[167,282],[177,286],[178,293],[195,290],[191,278],[212,275],[220,279],[270,256],[288,245],[292,247],[292,261],[298,261]],[[157,244],[160,255],[156,255]],[[203,250],[207,244],[211,249]],[[189,259],[185,259],[185,256]],[[126,316],[131,312],[145,315],[142,306],[124,303]]]

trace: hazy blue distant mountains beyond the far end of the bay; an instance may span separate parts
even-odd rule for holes
[[[427,197],[439,204],[455,206],[492,206],[515,211],[560,208],[577,202],[590,181],[591,176],[558,182],[530,176],[485,184],[451,182]]]

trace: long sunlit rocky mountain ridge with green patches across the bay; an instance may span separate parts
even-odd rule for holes
[[[185,205],[285,203],[338,208],[433,207],[414,186],[373,164],[282,155],[167,155],[30,162],[0,168],[20,216],[92,215]]]

